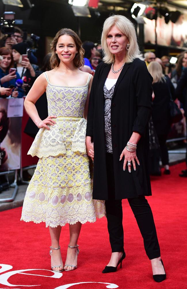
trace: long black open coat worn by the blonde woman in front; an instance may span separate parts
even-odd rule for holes
[[[91,87],[87,116],[87,136],[94,143],[93,199],[107,200],[106,153],[104,138],[103,87],[111,65],[100,63],[96,68]],[[148,172],[149,131],[152,106],[152,77],[140,59],[124,65],[115,85],[111,101],[111,131],[114,160],[115,199],[151,195]],[[121,152],[132,132],[142,135],[137,145],[136,171],[123,171]]]

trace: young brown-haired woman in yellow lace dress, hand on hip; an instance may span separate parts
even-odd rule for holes
[[[51,45],[51,68],[35,81],[25,99],[25,108],[40,128],[29,154],[39,162],[28,186],[21,220],[45,222],[51,236],[51,268],[77,268],[77,245],[81,224],[104,216],[104,203],[92,200],[85,134],[92,76],[79,70],[84,50],[71,29],[61,29]],[[41,120],[35,102],[46,90],[49,116]],[[95,208],[94,208],[95,205]],[[70,242],[65,266],[59,238],[69,223]]]

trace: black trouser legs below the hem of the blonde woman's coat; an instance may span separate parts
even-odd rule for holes
[[[144,196],[128,199],[144,240],[148,258],[160,257],[160,247],[152,211]],[[105,201],[108,233],[112,252],[123,252],[123,212],[121,200]]]

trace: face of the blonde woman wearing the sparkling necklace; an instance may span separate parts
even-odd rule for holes
[[[126,55],[129,39],[115,25],[110,28],[106,38],[108,49],[115,55]]]

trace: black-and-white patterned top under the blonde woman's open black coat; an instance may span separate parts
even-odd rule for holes
[[[111,120],[110,109],[111,99],[114,93],[115,84],[108,90],[104,85],[104,131],[105,131],[105,150],[107,153],[112,153],[112,133],[111,133]]]

